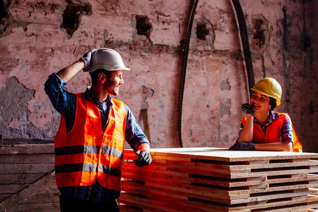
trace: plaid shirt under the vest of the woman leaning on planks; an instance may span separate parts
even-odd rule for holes
[[[269,126],[272,123],[272,120],[275,120],[277,118],[279,118],[278,113],[275,111],[270,111],[269,116],[268,116],[268,123],[264,127],[259,124],[258,120],[255,117],[253,119],[253,123],[260,125],[261,128],[263,129],[264,135],[266,135],[267,126]],[[239,138],[241,136],[241,132],[242,132],[243,128],[244,128],[244,126],[241,123],[240,128],[239,128]],[[289,117],[289,115],[286,116],[284,123],[282,124],[282,127],[280,129],[280,135],[281,135],[281,139],[280,139],[281,142],[290,141],[294,144],[292,120]]]

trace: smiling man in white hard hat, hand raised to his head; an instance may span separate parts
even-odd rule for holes
[[[64,87],[83,70],[92,78],[85,93]],[[119,94],[126,68],[112,49],[93,49],[77,62],[53,73],[45,92],[61,114],[54,137],[55,179],[60,211],[119,211],[124,140],[138,155],[137,166],[151,163],[150,143],[132,111],[112,96]]]

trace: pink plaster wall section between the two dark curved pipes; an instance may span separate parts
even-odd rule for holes
[[[238,136],[240,105],[248,101],[234,11],[230,1],[199,1],[194,19],[182,105],[183,146],[228,147]],[[198,39],[198,26],[204,24],[209,32],[205,40]]]

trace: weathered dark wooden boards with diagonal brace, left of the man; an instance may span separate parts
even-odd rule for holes
[[[0,212],[59,211],[54,145],[0,145]]]

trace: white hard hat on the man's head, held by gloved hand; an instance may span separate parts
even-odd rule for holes
[[[90,59],[91,66],[86,70],[92,72],[96,69],[107,71],[130,70],[123,64],[120,54],[113,49],[98,49],[94,51]]]

